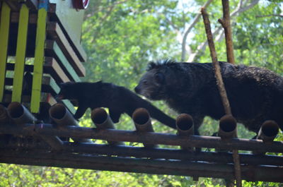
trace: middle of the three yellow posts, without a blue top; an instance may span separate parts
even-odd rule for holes
[[[23,4],[18,21],[18,38],[16,47],[16,64],[13,76],[12,102],[21,102],[23,71],[25,68],[25,49],[28,35],[28,12],[28,7]]]

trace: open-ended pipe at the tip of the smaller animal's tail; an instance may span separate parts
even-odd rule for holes
[[[194,134],[194,121],[189,114],[180,114],[176,119],[177,135],[186,136]],[[189,146],[181,146],[183,150],[192,151]]]

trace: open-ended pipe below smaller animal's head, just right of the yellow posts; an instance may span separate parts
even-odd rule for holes
[[[53,119],[59,128],[64,128],[64,126],[79,126],[74,116],[69,112],[69,110],[64,106],[64,104],[57,103],[54,104],[49,109],[50,118]],[[75,142],[79,143],[92,143],[90,139],[86,138],[72,138]]]

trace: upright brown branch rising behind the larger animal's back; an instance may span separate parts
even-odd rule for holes
[[[221,23],[225,32],[227,61],[231,64],[235,64],[232,30],[230,23],[229,0],[222,0],[222,6],[223,6],[223,19],[219,19],[218,21],[219,23]]]

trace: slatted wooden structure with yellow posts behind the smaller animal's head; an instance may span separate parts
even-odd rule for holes
[[[57,103],[59,83],[79,82],[85,76],[84,11],[62,0],[0,3],[0,101],[23,102],[42,114]],[[74,112],[69,101],[64,104]]]

